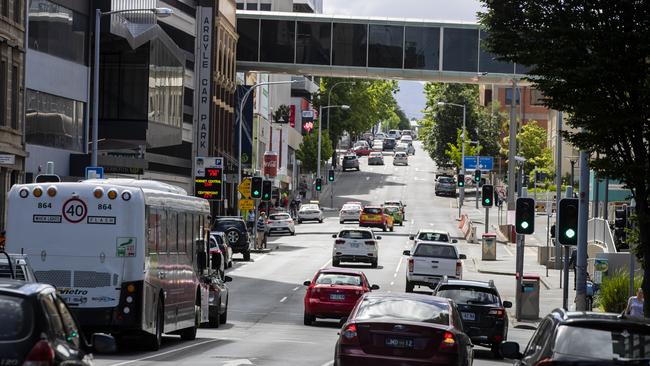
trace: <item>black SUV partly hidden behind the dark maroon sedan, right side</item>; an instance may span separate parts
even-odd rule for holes
[[[443,280],[433,294],[456,303],[472,343],[490,347],[496,357],[500,356],[501,342],[508,337],[506,309],[512,303],[501,301],[494,282]]]

